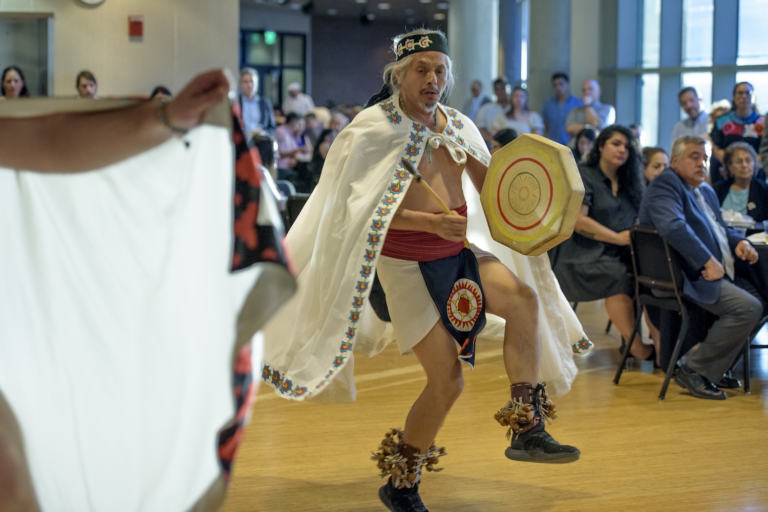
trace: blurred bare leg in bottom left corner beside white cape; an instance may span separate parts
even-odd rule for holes
[[[0,392],[0,512],[38,512],[22,431]]]

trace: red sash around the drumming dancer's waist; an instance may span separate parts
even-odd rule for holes
[[[461,216],[467,216],[467,205],[456,208]],[[463,242],[450,242],[435,233],[390,229],[386,233],[382,255],[409,261],[435,261],[456,256],[464,249]]]

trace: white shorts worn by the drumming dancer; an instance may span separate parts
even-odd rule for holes
[[[492,257],[470,244],[475,258]],[[413,347],[429,334],[435,323],[442,322],[440,313],[429,295],[419,262],[379,256],[376,274],[386,294],[386,305],[395,330],[397,347],[401,354],[410,354]]]

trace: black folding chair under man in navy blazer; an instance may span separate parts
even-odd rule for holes
[[[621,373],[624,372],[627,365],[627,358],[632,345],[631,340],[634,340],[643,319],[641,314],[643,306],[656,306],[674,311],[682,317],[682,325],[680,326],[680,334],[677,335],[672,357],[669,365],[667,365],[664,384],[661,386],[659,400],[663,401],[674,373],[675,363],[680,357],[680,348],[688,331],[688,305],[682,296],[683,275],[674,249],[670,249],[667,240],[663,239],[654,228],[633,226],[630,232],[630,249],[635,278],[636,311],[638,313],[635,315],[634,329],[624,348],[621,363],[616,370],[614,385],[618,385]],[[657,292],[656,295],[654,295],[654,291]]]

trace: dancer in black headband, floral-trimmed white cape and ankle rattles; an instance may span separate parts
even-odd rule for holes
[[[392,339],[382,320],[392,322],[399,351],[415,352],[427,376],[405,431],[387,432],[374,456],[389,477],[379,497],[389,510],[406,512],[426,510],[422,467],[431,471],[445,453],[435,448],[435,435],[462,392],[461,362],[474,365],[486,309],[489,326],[492,315],[507,321],[501,338],[511,397],[495,415],[511,435],[506,456],[562,463],[576,461],[579,451],[545,431],[555,416],[539,380],[546,306],[496,256],[462,243],[468,210],[488,231],[479,200],[465,201],[462,175],[466,170],[480,190],[490,155],[472,121],[439,103],[454,81],[445,35],[412,31],[396,38],[393,49],[397,59],[385,70],[384,88],[337,137],[286,239],[300,292],[265,330],[262,377],[285,398],[354,399],[353,345],[377,352]],[[418,164],[451,214],[434,213],[439,203],[413,184],[402,159]],[[537,258],[548,265],[546,256]],[[551,279],[548,266],[541,269]],[[557,305],[554,279],[551,286]],[[562,340],[570,333],[557,315],[552,323],[559,322]]]

